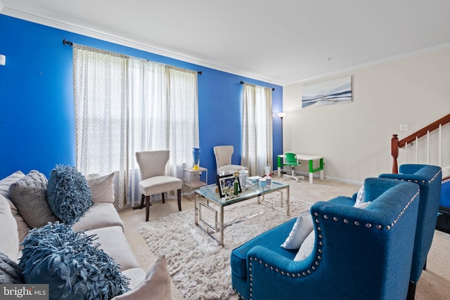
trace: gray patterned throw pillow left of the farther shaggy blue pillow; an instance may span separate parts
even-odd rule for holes
[[[30,171],[9,187],[9,197],[20,216],[31,228],[57,221],[46,200],[47,178],[36,170]]]

